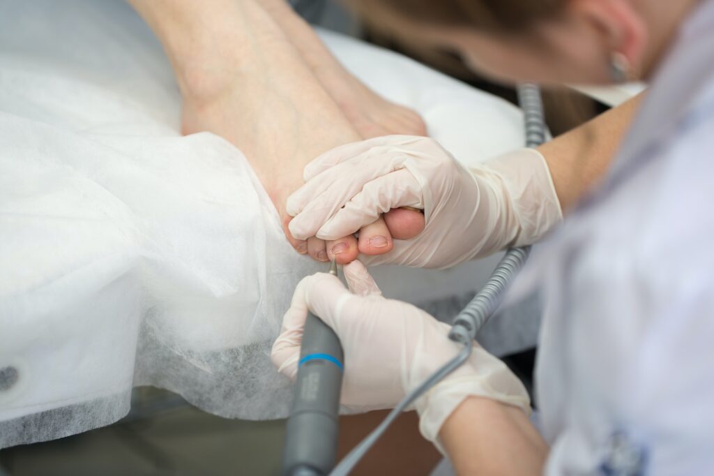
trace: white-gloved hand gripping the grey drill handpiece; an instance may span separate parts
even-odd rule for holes
[[[308,309],[340,337],[345,373],[341,403],[353,410],[395,407],[461,349],[447,324],[406,302],[385,299],[361,262],[344,267],[353,293],[331,274],[303,279],[273,344],[271,359],[294,379]],[[435,441],[448,415],[468,396],[493,398],[530,412],[528,393],[500,360],[474,344],[471,358],[416,401],[420,428]]]

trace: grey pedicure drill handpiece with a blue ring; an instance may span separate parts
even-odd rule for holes
[[[334,260],[329,273],[338,275]],[[286,432],[284,475],[327,475],[334,467],[342,372],[343,352],[337,334],[308,312]]]

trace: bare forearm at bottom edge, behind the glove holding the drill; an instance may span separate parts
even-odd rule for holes
[[[539,475],[548,445],[521,410],[468,397],[439,437],[458,475]]]

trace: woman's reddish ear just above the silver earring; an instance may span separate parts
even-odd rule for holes
[[[571,0],[568,13],[603,36],[608,53],[620,53],[637,68],[643,62],[647,31],[632,0]]]

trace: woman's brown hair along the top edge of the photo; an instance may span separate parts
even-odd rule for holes
[[[519,31],[540,19],[553,18],[568,0],[348,0],[373,24],[380,17],[435,26],[456,26],[486,31]],[[376,25],[377,26],[377,25]],[[384,25],[380,25],[384,26]]]

